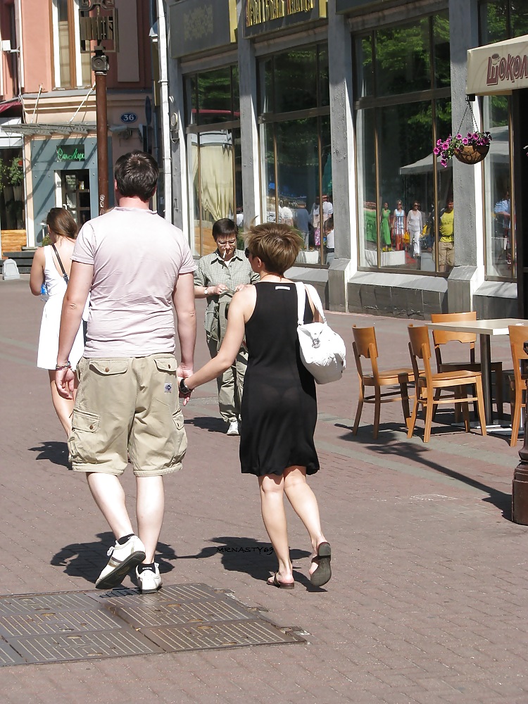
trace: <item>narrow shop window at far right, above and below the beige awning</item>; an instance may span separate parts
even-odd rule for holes
[[[480,44],[492,44],[528,33],[528,2],[486,2],[479,7]],[[509,96],[482,99],[484,129],[493,140],[484,159],[484,245],[486,277],[517,277],[515,198]]]

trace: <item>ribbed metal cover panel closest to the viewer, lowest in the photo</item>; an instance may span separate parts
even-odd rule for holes
[[[162,652],[154,643],[131,630],[35,636],[11,639],[10,643],[27,662],[92,660]]]

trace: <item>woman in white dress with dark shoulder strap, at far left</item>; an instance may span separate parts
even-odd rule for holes
[[[77,222],[65,208],[51,208],[46,218],[51,245],[37,249],[34,253],[30,273],[30,289],[34,296],[41,294],[42,284],[46,285],[47,298],[42,311],[37,367],[47,369],[51,399],[58,420],[68,436],[72,430],[73,403],[75,398],[62,398],[55,386],[55,366],[57,363],[58,331],[61,327],[61,310],[66,292],[67,277],[70,276],[72,253],[77,237]],[[54,249],[55,247],[55,249]],[[65,274],[61,268],[61,263]],[[84,351],[82,326],[77,332],[70,363],[75,369]]]

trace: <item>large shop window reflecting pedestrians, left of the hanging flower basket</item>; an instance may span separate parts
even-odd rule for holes
[[[453,177],[432,150],[451,133],[448,13],[358,36],[355,51],[360,267],[446,273]]]

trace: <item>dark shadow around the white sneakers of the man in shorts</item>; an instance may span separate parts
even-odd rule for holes
[[[64,567],[65,574],[70,577],[82,577],[93,585],[108,562],[106,555],[108,548],[115,543],[115,537],[111,532],[98,533],[96,537],[99,538],[99,541],[70,543],[70,545],[64,546],[51,558],[51,565]],[[173,560],[176,560],[174,549],[167,543],[158,543],[156,562],[159,562],[162,574],[174,569],[174,565],[171,564]],[[133,571],[131,577],[135,583],[136,577]]]

